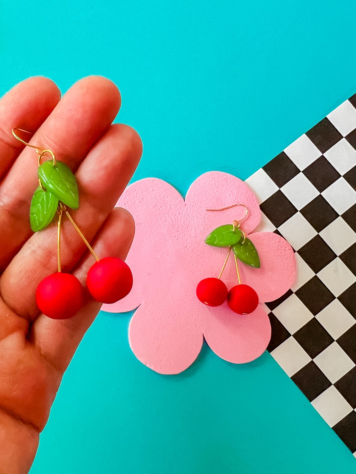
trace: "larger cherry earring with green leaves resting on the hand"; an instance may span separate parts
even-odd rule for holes
[[[39,186],[33,194],[30,206],[30,224],[34,232],[46,228],[58,215],[57,223],[57,257],[58,272],[52,273],[42,280],[36,290],[38,309],[52,319],[68,319],[82,308],[84,304],[84,288],[71,273],[61,272],[61,222],[66,214],[76,231],[84,240],[96,262],[89,269],[86,286],[95,301],[114,303],[124,298],[132,288],[132,273],[127,264],[117,257],[105,257],[99,260],[89,242],[79,230],[69,214],[67,207],[78,209],[79,194],[74,174],[66,164],[57,161],[51,150],[42,150],[38,146],[29,145],[18,137],[15,130],[30,133],[21,128],[13,128],[12,135],[38,154]],[[44,155],[52,159],[41,164]]]

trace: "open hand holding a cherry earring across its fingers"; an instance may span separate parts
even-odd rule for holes
[[[80,205],[71,215],[99,258],[124,259],[134,222],[113,207],[142,145],[132,128],[112,125],[120,104],[116,86],[95,76],[75,83],[61,100],[57,86],[44,77],[19,83],[0,100],[0,473],[28,473],[63,373],[101,306],[85,292],[84,307],[72,319],[38,314],[37,285],[57,271],[57,229],[52,223],[31,232],[38,155],[15,140],[11,129],[32,132],[31,144],[52,150],[75,171]],[[95,261],[66,217],[61,261],[62,271],[73,272],[85,286]]]

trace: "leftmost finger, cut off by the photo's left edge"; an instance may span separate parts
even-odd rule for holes
[[[12,128],[34,133],[61,98],[56,84],[47,77],[30,77],[13,87],[0,100],[0,180],[25,145],[15,140]],[[1,203],[0,203],[1,204]]]

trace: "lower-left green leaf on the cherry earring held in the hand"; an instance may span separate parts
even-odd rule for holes
[[[58,198],[49,191],[43,191],[38,186],[30,207],[30,224],[34,232],[46,228],[55,217],[58,207]]]

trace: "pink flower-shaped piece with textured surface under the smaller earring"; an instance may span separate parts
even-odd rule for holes
[[[241,282],[258,294],[251,314],[238,315],[223,303],[209,307],[198,301],[197,283],[217,277],[227,248],[204,242],[216,227],[248,216],[241,229],[256,247],[261,268],[239,263]],[[190,186],[186,200],[167,182],[146,178],[131,184],[117,203],[135,219],[136,233],[126,262],[133,274],[131,293],[103,305],[104,311],[138,308],[129,327],[136,357],[160,374],[178,374],[197,358],[203,336],[219,357],[243,364],[259,357],[271,338],[263,302],[282,296],[292,285],[296,263],[291,246],[272,232],[255,232],[260,207],[248,186],[227,173],[205,173]],[[237,284],[233,253],[221,277],[230,289]]]

